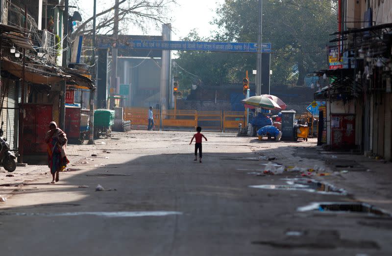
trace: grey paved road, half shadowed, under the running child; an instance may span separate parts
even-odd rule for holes
[[[391,255],[390,218],[296,211],[353,196],[249,187],[295,178],[248,174],[267,163],[260,152],[291,154],[292,144],[205,133],[198,163],[191,135],[133,131],[97,140],[80,155],[98,157],[73,162],[55,185],[43,169],[0,206],[1,255]],[[98,184],[107,191],[95,191]]]

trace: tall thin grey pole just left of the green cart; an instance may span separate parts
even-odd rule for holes
[[[97,23],[97,0],[94,0],[94,10],[93,10],[93,67],[94,67],[94,73],[93,73],[93,81],[94,85],[96,86],[97,83],[97,63],[95,61],[95,39],[96,39],[96,23]],[[90,135],[89,135],[89,141],[88,144],[94,144],[94,95],[95,95],[95,90],[90,90]],[[81,106],[80,106],[81,107]]]

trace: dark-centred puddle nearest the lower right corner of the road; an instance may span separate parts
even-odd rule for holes
[[[392,214],[366,203],[349,203],[349,202],[321,202],[312,203],[307,206],[297,208],[297,211],[321,211],[321,212],[359,212],[376,215],[380,217],[392,217]]]

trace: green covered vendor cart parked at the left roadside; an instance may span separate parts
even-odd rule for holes
[[[110,138],[114,124],[114,110],[97,109],[94,111],[94,137]]]

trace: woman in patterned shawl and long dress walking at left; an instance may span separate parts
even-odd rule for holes
[[[48,145],[48,166],[50,173],[52,174],[53,180],[59,181],[59,172],[70,163],[65,155],[65,147],[67,145],[67,135],[60,129],[57,128],[55,122],[49,123],[49,131],[45,135],[45,142]]]

